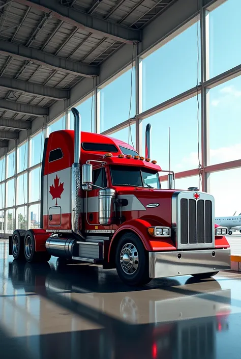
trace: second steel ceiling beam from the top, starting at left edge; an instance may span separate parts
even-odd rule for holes
[[[35,48],[28,48],[9,41],[0,40],[0,52],[15,59],[29,60],[55,70],[64,70],[75,76],[98,76],[98,67],[86,65],[73,60],[67,60]]]

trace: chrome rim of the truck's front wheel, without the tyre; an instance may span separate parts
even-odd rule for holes
[[[126,243],[120,251],[120,265],[126,274],[132,275],[137,271],[139,256],[136,247],[132,243]]]

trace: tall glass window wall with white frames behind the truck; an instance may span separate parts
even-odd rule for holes
[[[198,16],[153,52],[138,53],[133,45],[132,64],[93,88],[75,107],[82,131],[115,137],[140,155],[150,123],[151,157],[163,170],[170,165],[175,188],[199,187],[215,196],[216,215],[239,214],[241,195],[236,185],[241,175],[241,145],[235,130],[241,113],[241,48],[237,46],[241,2],[227,0],[216,8],[214,3],[212,11],[199,10]],[[73,129],[70,108],[67,115],[0,158],[3,234],[16,227],[39,227],[45,134]],[[163,173],[163,188],[166,181]]]

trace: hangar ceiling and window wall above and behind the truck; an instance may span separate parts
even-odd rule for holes
[[[73,106],[83,131],[140,154],[152,124],[163,170],[170,128],[175,188],[208,191],[231,215],[241,200],[237,9],[239,0],[1,0],[1,236],[39,227],[44,139],[73,129]]]

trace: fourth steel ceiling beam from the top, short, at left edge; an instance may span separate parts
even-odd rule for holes
[[[48,116],[48,108],[0,99],[0,108],[24,115]]]

